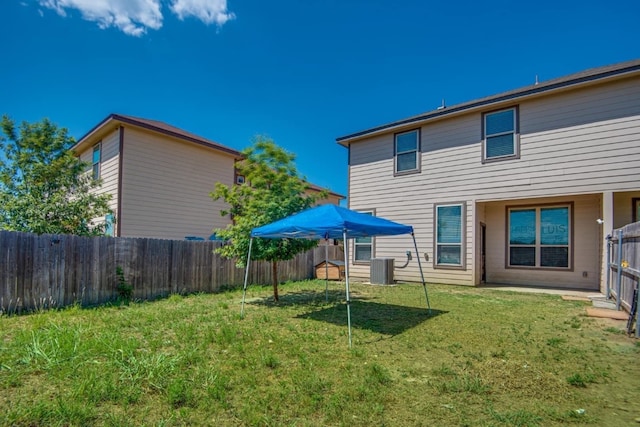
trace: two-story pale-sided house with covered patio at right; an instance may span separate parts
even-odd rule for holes
[[[640,220],[640,60],[337,142],[349,207],[412,225],[428,281],[601,289],[607,234]],[[350,274],[366,279],[370,258],[397,265],[410,249],[358,239]],[[419,280],[415,257],[395,278]]]

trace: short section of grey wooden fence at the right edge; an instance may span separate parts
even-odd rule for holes
[[[640,305],[640,222],[613,230],[608,239],[607,297],[615,299],[618,310],[631,311],[634,302]],[[638,337],[639,329],[636,325]]]

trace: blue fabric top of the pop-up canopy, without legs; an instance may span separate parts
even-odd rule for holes
[[[342,239],[411,234],[413,227],[355,212],[336,205],[307,209],[279,221],[254,228],[251,237],[266,239]]]

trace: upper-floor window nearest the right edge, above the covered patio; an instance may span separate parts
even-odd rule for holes
[[[520,157],[518,109],[486,113],[483,120],[483,162]]]

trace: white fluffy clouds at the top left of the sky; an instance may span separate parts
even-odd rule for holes
[[[167,1],[167,0],[165,0]],[[115,27],[131,36],[142,36],[148,29],[162,27],[161,0],[38,0],[41,6],[67,16],[67,10],[80,11],[87,21],[100,28]],[[170,0],[170,9],[178,18],[193,16],[205,24],[224,25],[235,15],[227,9],[227,0]]]

